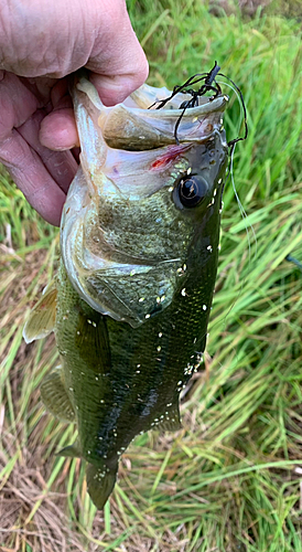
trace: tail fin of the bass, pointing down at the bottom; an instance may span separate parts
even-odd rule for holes
[[[94,505],[101,510],[111,495],[117,480],[118,463],[114,468],[109,468],[104,463],[103,466],[88,464],[86,468],[87,487]]]

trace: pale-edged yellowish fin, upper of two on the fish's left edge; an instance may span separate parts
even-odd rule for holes
[[[52,282],[43,291],[41,299],[33,307],[23,328],[26,343],[42,339],[54,330],[56,310],[56,287]]]

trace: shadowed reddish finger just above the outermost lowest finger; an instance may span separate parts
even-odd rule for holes
[[[44,110],[39,109],[30,119],[18,128],[18,132],[39,155],[57,185],[67,193],[71,182],[77,171],[77,163],[71,151],[52,151],[41,144],[39,132],[40,124],[43,119]]]

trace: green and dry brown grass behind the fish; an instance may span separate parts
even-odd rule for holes
[[[205,369],[183,396],[183,429],[137,437],[104,512],[84,467],[55,452],[73,428],[44,412],[39,386],[54,339],[25,346],[26,312],[55,270],[57,231],[0,181],[0,546],[3,552],[301,552],[301,24],[214,18],[197,0],[129,1],[170,87],[217,60],[241,87],[249,137],[225,190],[222,254]],[[240,126],[231,95],[228,137]],[[254,231],[251,230],[251,225]]]

